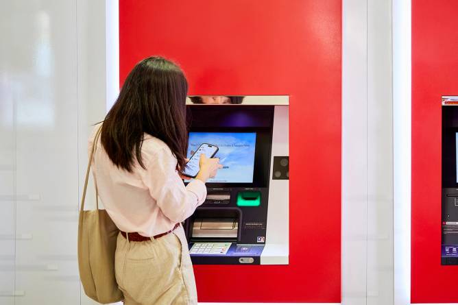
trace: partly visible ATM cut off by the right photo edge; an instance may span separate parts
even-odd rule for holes
[[[458,96],[442,97],[442,265],[458,265]]]

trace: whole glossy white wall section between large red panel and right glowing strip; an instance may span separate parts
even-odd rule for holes
[[[391,1],[343,0],[343,304],[394,302]]]

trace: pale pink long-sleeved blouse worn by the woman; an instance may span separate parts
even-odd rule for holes
[[[99,125],[89,138],[91,151]],[[177,160],[158,138],[145,134],[141,156],[132,173],[118,169],[97,142],[92,162],[99,199],[119,230],[154,236],[191,216],[206,197],[206,186],[193,180],[185,187],[176,171]]]

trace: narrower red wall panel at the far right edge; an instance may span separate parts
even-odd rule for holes
[[[458,95],[458,1],[412,1],[411,301],[458,302],[441,266],[441,96]]]

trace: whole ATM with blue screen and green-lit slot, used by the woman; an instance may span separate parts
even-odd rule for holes
[[[189,97],[186,107],[188,158],[208,143],[223,165],[184,223],[193,263],[287,265],[289,97]]]

